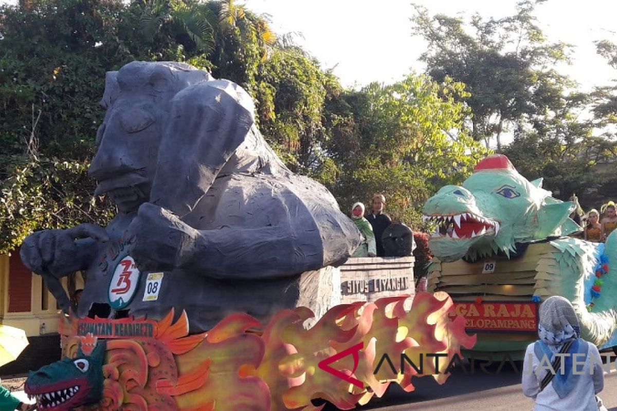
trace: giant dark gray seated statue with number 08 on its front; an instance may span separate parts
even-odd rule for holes
[[[183,63],[133,62],[107,73],[101,104],[89,173],[117,216],[22,245],[65,310],[59,279],[86,270],[80,317],[110,301],[154,319],[184,309],[193,331],[233,311],[265,319],[294,306],[302,272],[344,261],[360,242],[328,190],[276,157],[236,84]],[[164,275],[148,285],[152,272]]]

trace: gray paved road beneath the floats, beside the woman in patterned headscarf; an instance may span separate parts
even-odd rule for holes
[[[612,358],[611,373],[605,375],[604,389],[600,397],[611,411],[617,411],[617,363]],[[517,363],[521,364],[521,363]],[[357,410],[375,411],[460,411],[460,410],[531,410],[534,402],[523,396],[521,375],[506,364],[499,375],[497,367],[487,368],[489,375],[475,367],[474,373],[457,370],[444,385],[438,385],[431,376],[413,380],[416,390],[405,393],[392,384],[381,399],[373,399]],[[519,370],[520,371],[520,370]],[[336,410],[326,407],[327,411]]]

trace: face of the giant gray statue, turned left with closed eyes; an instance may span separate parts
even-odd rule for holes
[[[107,73],[101,100],[107,114],[89,169],[99,182],[97,195],[109,195],[122,212],[136,211],[150,198],[172,99],[209,80],[208,73],[183,63],[133,62]]]

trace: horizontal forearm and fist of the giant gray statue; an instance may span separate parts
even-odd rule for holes
[[[323,266],[321,248],[297,237],[290,242],[286,227],[195,230],[164,208],[146,203],[130,231],[136,233],[131,256],[144,271],[180,268],[215,278],[255,279]]]

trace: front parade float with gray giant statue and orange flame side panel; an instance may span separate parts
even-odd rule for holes
[[[394,295],[341,304],[331,272],[359,233],[325,187],[276,157],[241,87],[133,62],[107,73],[101,103],[89,171],[117,216],[21,248],[64,311],[62,360],[25,384],[38,409],[352,409],[392,382],[443,383],[473,347],[445,293],[411,301],[392,277],[372,284]],[[73,312],[60,279],[75,271],[86,283]],[[112,316],[92,315],[95,303]]]

